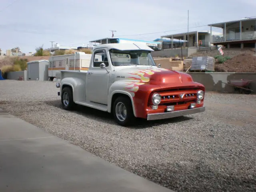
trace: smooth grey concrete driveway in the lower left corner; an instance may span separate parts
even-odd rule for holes
[[[1,192],[172,191],[110,164],[2,110],[0,157]]]

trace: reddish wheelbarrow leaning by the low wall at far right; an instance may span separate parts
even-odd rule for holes
[[[244,79],[233,79],[230,80],[228,83],[224,83],[224,84],[228,84],[230,86],[234,87],[235,92],[238,92],[240,94],[244,93],[244,94],[251,94],[252,92],[254,92],[253,90],[249,89],[249,84],[252,82],[253,80],[244,80]]]

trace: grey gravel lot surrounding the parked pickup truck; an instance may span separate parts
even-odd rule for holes
[[[256,95],[206,94],[206,112],[118,126],[61,108],[55,82],[0,81],[0,108],[175,191],[256,190]]]

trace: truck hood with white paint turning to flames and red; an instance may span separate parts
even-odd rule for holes
[[[184,72],[150,66],[118,70],[115,75],[115,81],[116,80],[150,83],[159,86],[193,82],[192,77]]]

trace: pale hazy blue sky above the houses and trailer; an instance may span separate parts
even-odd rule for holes
[[[0,48],[34,53],[50,41],[77,47],[111,37],[110,30],[117,38],[154,40],[256,17],[255,10],[256,0],[0,0]]]

